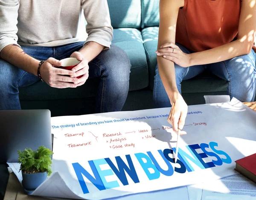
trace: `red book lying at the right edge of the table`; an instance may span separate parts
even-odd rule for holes
[[[256,183],[256,154],[237,160],[235,170]]]

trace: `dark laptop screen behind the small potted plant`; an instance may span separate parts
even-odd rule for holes
[[[18,162],[17,150],[52,150],[49,110],[0,110],[0,163]]]

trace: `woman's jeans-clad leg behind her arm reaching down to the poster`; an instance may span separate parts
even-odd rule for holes
[[[176,43],[177,46],[185,53],[192,53],[186,47]],[[180,67],[177,64],[174,64],[175,67],[175,77],[176,77],[176,84],[181,94],[181,82],[183,80],[187,80],[189,78],[193,78],[196,75],[200,74],[204,71],[204,65],[201,66],[192,66],[192,67]],[[163,86],[162,80],[159,75],[158,65],[156,67],[156,75],[154,76],[154,90],[153,90],[153,99],[155,107],[171,107],[171,103],[169,97],[166,93],[166,90]]]

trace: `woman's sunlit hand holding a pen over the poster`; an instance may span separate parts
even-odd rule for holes
[[[183,129],[187,113],[188,106],[182,96],[178,94],[177,98],[175,98],[172,103],[172,109],[168,117],[168,122],[172,125],[172,128],[176,133],[178,132],[178,129]],[[184,134],[186,134],[185,131],[180,132],[180,135]]]

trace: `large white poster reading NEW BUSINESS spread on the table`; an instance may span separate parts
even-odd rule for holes
[[[256,153],[256,112],[233,99],[189,106],[174,163],[169,111],[52,118],[52,171],[77,196],[99,200],[217,180],[236,174],[235,161]]]

